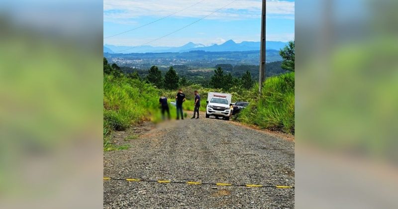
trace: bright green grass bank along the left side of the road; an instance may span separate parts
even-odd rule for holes
[[[127,149],[110,142],[113,131],[125,130],[159,113],[159,90],[152,85],[126,77],[103,78],[103,150]]]

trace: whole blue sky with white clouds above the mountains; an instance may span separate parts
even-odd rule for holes
[[[200,0],[104,0],[103,33],[111,36],[170,15]],[[104,44],[136,46],[149,42],[228,4],[232,0],[203,0],[186,10],[142,28],[103,40]],[[236,0],[225,8],[152,46],[181,46],[190,41],[210,45],[232,39],[259,41],[261,0]],[[267,0],[266,39],[289,41],[295,33],[294,0]]]

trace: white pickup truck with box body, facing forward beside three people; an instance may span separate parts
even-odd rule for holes
[[[209,92],[206,101],[206,118],[213,115],[215,117],[222,117],[225,120],[229,120],[232,111],[230,108],[232,105],[231,100],[232,95],[230,94]]]

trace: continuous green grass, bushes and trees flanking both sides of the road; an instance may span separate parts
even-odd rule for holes
[[[292,48],[293,47],[293,48]],[[293,54],[292,54],[293,53]],[[286,56],[285,56],[286,55]],[[289,71],[294,71],[294,42],[281,50],[284,57],[282,64]],[[293,58],[293,59],[292,59]],[[280,62],[281,64],[281,62]],[[292,67],[293,65],[293,67]],[[116,146],[110,142],[114,131],[125,130],[131,125],[136,125],[145,119],[153,122],[161,120],[159,97],[168,98],[169,102],[175,101],[178,88],[186,94],[185,110],[194,109],[194,91],[198,90],[202,99],[200,110],[206,110],[208,92],[221,92],[232,94],[232,103],[247,101],[250,105],[235,117],[236,120],[257,125],[260,128],[280,130],[286,133],[295,132],[295,73],[282,74],[268,77],[263,91],[258,94],[258,83],[255,83],[250,70],[234,76],[234,66],[230,64],[216,65],[210,81],[206,85],[195,84],[185,76],[181,79],[171,66],[163,77],[162,71],[157,66],[152,66],[144,78],[138,71],[125,72],[117,64],[109,64],[103,60],[103,135],[104,150],[127,149],[128,145]],[[258,72],[258,66],[256,71]],[[279,66],[280,67],[280,66]],[[223,68],[226,69],[224,73]],[[238,67],[251,69],[253,66]],[[206,72],[209,73],[209,72]],[[204,78],[205,79],[205,78]],[[176,117],[176,109],[170,107],[171,118]],[[187,117],[187,114],[185,114]],[[124,140],[137,138],[128,136]]]

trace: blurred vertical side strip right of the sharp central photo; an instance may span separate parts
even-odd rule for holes
[[[296,2],[296,208],[398,208],[397,9]]]

